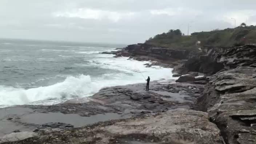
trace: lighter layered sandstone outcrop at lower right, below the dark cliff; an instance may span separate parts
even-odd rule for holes
[[[207,105],[211,120],[216,123],[227,143],[256,143],[256,68],[238,66],[209,77],[199,105]],[[204,109],[205,109],[204,108]]]

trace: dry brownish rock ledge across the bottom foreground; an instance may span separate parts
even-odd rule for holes
[[[188,124],[188,117],[190,123]],[[131,119],[106,121],[57,132],[40,132],[39,137],[17,143],[196,143],[222,144],[220,131],[205,112],[174,109]]]

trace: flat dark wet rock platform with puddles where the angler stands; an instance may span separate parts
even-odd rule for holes
[[[45,132],[51,133],[51,135],[60,135],[60,131],[69,131],[72,133],[77,128],[101,123],[101,121],[108,121],[105,123],[108,125],[111,121],[124,119],[125,122],[129,119],[135,119],[131,117],[137,117],[139,119],[137,122],[142,123],[145,115],[148,114],[164,113],[177,108],[197,110],[198,107],[195,103],[197,97],[203,92],[203,85],[194,84],[193,82],[171,83],[173,81],[165,81],[164,83],[157,81],[151,82],[149,92],[145,91],[145,84],[132,84],[104,88],[91,97],[72,99],[57,105],[20,105],[0,109],[0,123],[5,124],[5,128],[0,128],[0,136],[6,136],[15,130],[19,130],[17,133],[35,132],[39,136],[29,138],[25,141],[28,142],[32,139],[33,141],[37,141],[37,139],[43,139],[45,136],[43,133]],[[187,123],[190,123],[189,119],[186,120]],[[206,120],[207,118],[205,118]],[[131,129],[136,130],[135,128]],[[55,132],[56,130],[57,132]],[[152,132],[154,131],[152,130]],[[164,131],[161,133],[164,133]],[[97,131],[94,134],[97,135]],[[98,134],[100,135],[100,133]],[[89,135],[92,135],[92,133]],[[113,134],[112,137],[116,135]],[[130,133],[129,135],[141,137],[140,133]],[[149,134],[145,133],[143,135],[147,136]],[[216,135],[216,133],[213,135]],[[109,134],[109,136],[111,135]],[[125,139],[124,137],[123,140]],[[149,137],[144,137],[144,142],[150,142],[152,139],[159,140],[160,138],[151,133]],[[184,139],[187,140],[187,138]],[[216,139],[218,138],[216,137]],[[51,140],[48,140],[50,143]],[[21,141],[17,143],[21,143]],[[109,139],[109,143],[114,142]]]

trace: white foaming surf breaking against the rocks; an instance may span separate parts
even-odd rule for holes
[[[144,77],[151,80],[172,79],[172,69],[158,66],[145,68],[148,61],[127,60],[127,57],[112,58],[113,55],[99,54],[89,65],[115,69],[120,73],[104,74],[98,77],[77,74],[67,76],[60,83],[38,88],[14,88],[0,86],[0,107],[7,105],[44,104],[51,105],[73,97],[91,96],[101,88],[134,83],[145,83]],[[88,66],[88,65],[87,65]],[[139,73],[141,72],[141,73]]]

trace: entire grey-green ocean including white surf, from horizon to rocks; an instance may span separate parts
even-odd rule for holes
[[[58,104],[105,87],[145,83],[147,76],[172,79],[170,68],[144,66],[151,61],[100,53],[124,46],[0,39],[0,107]]]

